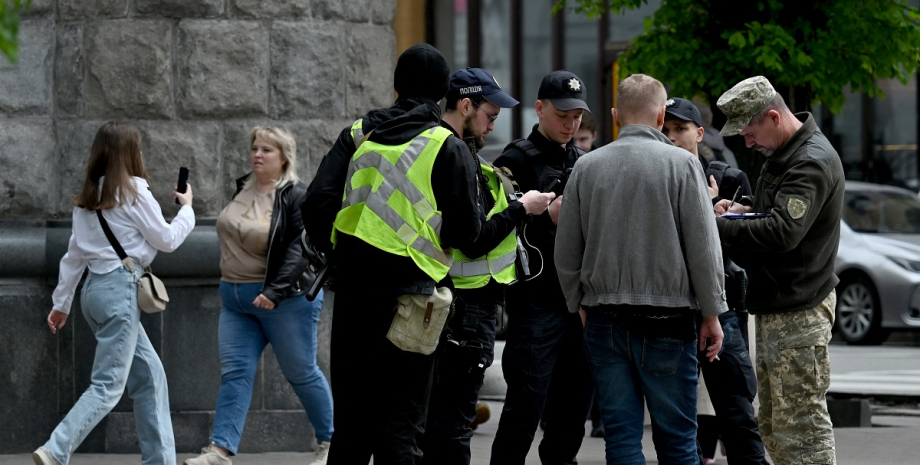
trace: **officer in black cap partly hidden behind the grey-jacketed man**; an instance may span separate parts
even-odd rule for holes
[[[707,165],[714,166],[700,156],[697,145],[703,139],[703,118],[699,109],[692,102],[682,98],[670,98],[665,102],[664,126],[661,132],[672,144],[692,153],[707,173],[710,183],[710,197],[713,203],[722,197],[732,198],[738,195],[751,195],[751,185],[743,171],[728,168],[720,179],[707,171]],[[727,165],[726,165],[727,166]],[[718,182],[717,182],[718,181]],[[725,444],[725,454],[733,465],[766,464],[760,430],[754,418],[754,396],[757,394],[757,378],[747,344],[748,314],[744,307],[744,286],[747,279],[744,270],[734,264],[725,251],[722,251],[722,263],[725,270],[725,291],[728,310],[719,315],[722,324],[722,353],[719,360],[710,362],[700,360],[700,368],[706,378],[706,390],[715,409],[715,421],[710,422],[700,417],[710,415],[697,414],[699,427],[697,438],[703,456],[714,456],[715,442],[719,437]],[[709,425],[712,424],[712,427]],[[706,434],[714,428],[711,434]],[[704,438],[711,437],[707,444]]]

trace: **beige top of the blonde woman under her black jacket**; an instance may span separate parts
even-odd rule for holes
[[[229,283],[265,280],[274,189],[260,194],[255,188],[240,192],[217,217],[221,279]]]

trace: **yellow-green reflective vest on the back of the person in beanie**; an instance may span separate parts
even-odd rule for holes
[[[357,122],[352,127],[353,134],[358,129],[356,126]],[[420,269],[435,280],[446,276],[453,258],[449,251],[445,252],[440,246],[441,214],[433,204],[433,193],[431,199],[427,198],[421,186],[416,184],[426,183],[424,188],[430,192],[431,171],[429,169],[422,173],[421,178],[419,174],[414,174],[416,182],[409,178],[409,172],[423,158],[423,153],[427,154],[426,163],[433,166],[434,157],[448,136],[450,131],[439,126],[424,131],[412,139],[393,161],[393,152],[398,147],[370,141],[362,144],[348,166],[342,211],[336,217],[335,229],[347,234],[354,233],[356,237],[381,250],[411,257]],[[381,152],[389,155],[389,158]],[[401,195],[396,195],[397,192]],[[372,218],[364,218],[365,222],[361,224],[361,212],[365,210],[372,212],[386,227]],[[414,212],[414,216],[407,214],[407,211]],[[403,215],[413,217],[404,218]],[[375,222],[376,226],[372,224]],[[364,228],[358,231],[362,225]],[[394,240],[396,238],[402,242],[402,249]],[[410,253],[405,246],[425,258]]]

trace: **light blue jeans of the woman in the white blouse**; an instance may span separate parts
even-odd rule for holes
[[[45,443],[61,465],[67,465],[74,450],[115,407],[125,389],[134,400],[142,463],[176,463],[166,372],[141,326],[138,276],[119,268],[106,274],[90,273],[83,285],[80,305],[96,336],[96,356],[89,388]]]

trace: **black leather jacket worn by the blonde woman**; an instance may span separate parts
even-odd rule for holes
[[[252,173],[236,180],[234,198],[243,190],[249,176]],[[300,233],[303,231],[300,204],[306,194],[307,186],[300,181],[288,182],[275,191],[261,293],[276,307],[288,297],[305,294],[313,284],[314,276],[307,270],[307,260],[303,258],[300,246]]]

